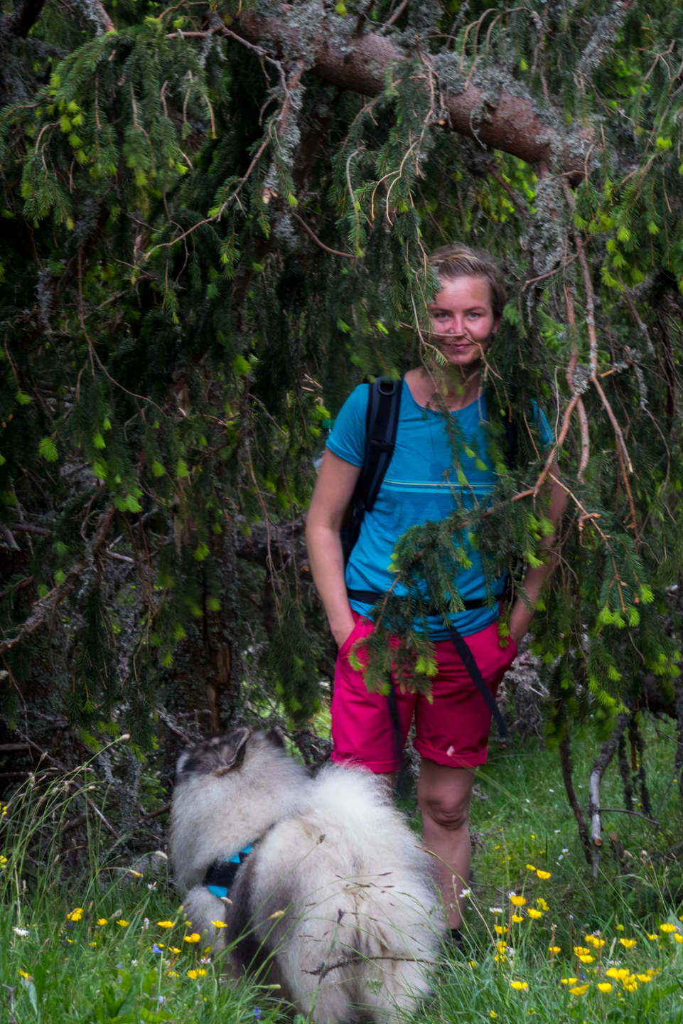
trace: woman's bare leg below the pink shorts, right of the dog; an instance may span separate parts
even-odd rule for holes
[[[473,782],[471,768],[451,768],[425,757],[420,761],[418,804],[422,812],[422,842],[437,858],[436,878],[451,928],[460,928],[465,900],[457,897],[467,888],[470,877],[469,810]]]

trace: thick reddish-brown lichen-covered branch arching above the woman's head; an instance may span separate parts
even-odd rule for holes
[[[304,40],[287,17],[261,20],[250,12],[236,20],[230,34],[237,34],[252,44],[267,41],[272,45],[272,41],[278,40],[278,55],[305,52],[309,65],[312,63],[312,71],[326,81],[366,96],[378,95],[385,88],[386,72],[392,65],[404,60],[407,53],[390,39],[378,34],[349,38],[342,44],[338,41],[340,32],[335,31],[341,25],[341,18],[328,14]],[[447,56],[451,57],[450,54]],[[490,91],[466,80],[460,74],[457,61],[449,67],[449,80],[445,76],[441,80],[437,69],[445,58],[444,54],[431,59],[423,56],[427,68],[439,81],[450,127],[477,139],[482,145],[503,150],[529,164],[548,163],[551,159],[550,136],[555,129],[544,123],[532,100],[513,96],[506,89],[501,89],[496,104],[493,104]],[[568,145],[560,162],[564,171],[583,175],[584,157],[570,152]]]

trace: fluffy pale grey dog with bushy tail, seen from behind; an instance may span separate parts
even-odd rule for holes
[[[383,1018],[428,991],[423,962],[443,935],[429,858],[374,775],[310,778],[274,733],[240,729],[180,756],[171,816],[193,928],[217,942],[211,922],[225,921],[233,967],[267,971],[315,1024]],[[226,905],[202,879],[249,845]]]

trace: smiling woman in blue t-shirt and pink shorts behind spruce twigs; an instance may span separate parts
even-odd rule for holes
[[[437,390],[434,377],[424,366],[418,367],[405,374],[393,457],[346,568],[340,528],[364,461],[368,385],[353,391],[335,423],[306,526],[311,571],[339,646],[332,702],[333,759],[352,761],[388,776],[398,763],[387,699],[368,693],[362,674],[348,662],[352,644],[372,631],[372,623],[364,618],[370,606],[349,601],[347,588],[388,590],[394,582],[388,569],[391,551],[409,526],[444,518],[458,493],[465,503],[472,500],[472,495],[477,500],[485,499],[496,483],[496,473],[485,462],[486,409],[481,372],[505,305],[503,275],[487,253],[465,246],[445,246],[432,253],[429,261],[441,286],[429,304],[429,314],[433,332],[430,343],[446,360],[447,390],[443,398],[450,414],[457,418],[465,446],[476,454],[476,459],[461,459],[467,486],[457,482],[444,414],[433,401]],[[548,443],[552,437],[543,414],[540,427]],[[550,508],[554,524],[563,508],[564,492],[555,484]],[[455,582],[461,597],[476,603],[486,594],[484,574],[477,553],[471,551],[469,557],[471,566],[459,571]],[[539,597],[549,571],[547,564],[527,570],[524,587],[531,602]],[[494,593],[501,594],[503,587],[504,580],[500,580]],[[484,604],[452,616],[494,695],[517,653],[532,611],[523,601],[516,601],[508,641],[499,637],[499,615],[497,603],[493,608]],[[443,622],[437,615],[428,622],[438,667],[431,680],[433,702],[413,693],[400,693],[398,687],[396,695],[403,742],[416,716],[423,841],[426,849],[436,855],[449,922],[458,940],[464,897],[454,898],[453,879],[455,876],[458,895],[467,885],[470,870],[472,769],[486,760],[490,712],[456,653]]]

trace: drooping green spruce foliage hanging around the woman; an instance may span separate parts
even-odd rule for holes
[[[234,545],[257,523],[300,517],[321,421],[364,377],[421,358],[438,373],[425,251],[459,239],[487,247],[510,281],[488,355],[487,450],[474,453],[499,483],[489,506],[464,502],[398,543],[397,586],[366,644],[369,684],[383,685],[395,635],[403,682],[428,692],[420,618],[461,606],[453,577],[473,536],[487,581],[505,569],[520,594],[521,564],[543,560],[548,535],[531,409],[559,437],[580,395],[588,447],[574,403],[555,451],[568,496],[558,569],[533,627],[548,735],[572,719],[602,734],[648,673],[670,689],[678,623],[670,614],[665,630],[663,613],[683,568],[680,4],[412,4],[390,30],[400,59],[371,98],[312,71],[293,84],[296,66],[274,44],[264,56],[219,31],[197,35],[219,27],[208,8],[113,13],[116,31],[96,35],[48,6],[31,37],[40,74],[27,62],[22,78],[34,94],[17,86],[0,115],[0,520],[28,515],[47,531],[22,562],[32,584],[4,606],[5,636],[22,637],[7,653],[14,678],[36,649],[33,629],[22,633],[31,588],[53,608],[86,581],[71,720],[91,745],[116,726],[148,746],[159,672],[193,624],[207,648],[226,621],[223,531]],[[327,16],[333,35],[356,20],[365,31],[354,5]],[[366,19],[388,16],[382,0]],[[501,88],[531,97],[552,129],[548,167],[449,130],[444,97],[469,81],[492,108]],[[471,115],[475,135],[486,117]],[[578,152],[585,173],[567,198],[562,162]],[[512,468],[499,410],[522,425]],[[71,486],[75,466],[87,480]],[[108,509],[119,550],[97,534]],[[93,584],[121,558],[144,594],[125,657]],[[305,720],[326,672],[308,643],[318,612],[296,559],[281,558],[281,581],[270,547],[263,564],[275,602],[265,671]]]

